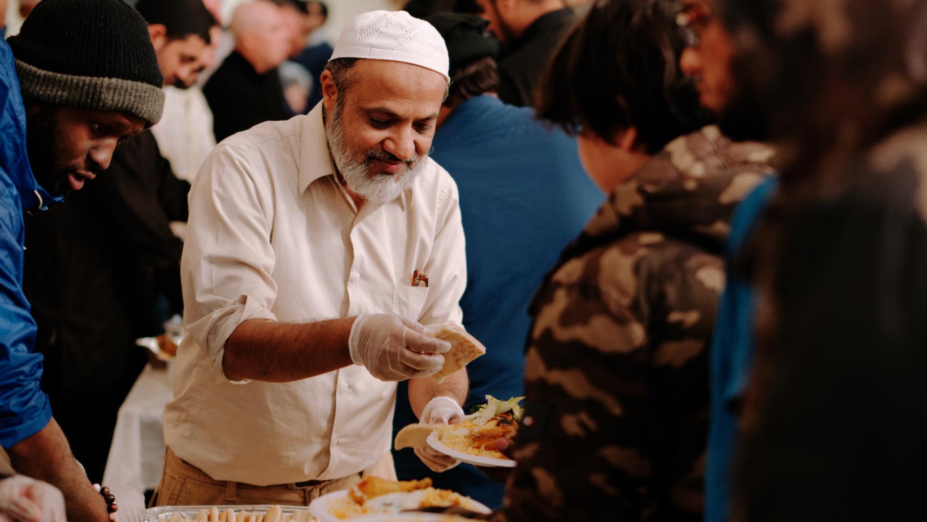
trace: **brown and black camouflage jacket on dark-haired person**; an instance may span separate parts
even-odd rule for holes
[[[701,519],[720,253],[771,156],[716,127],[679,137],[565,249],[534,304],[499,519]]]

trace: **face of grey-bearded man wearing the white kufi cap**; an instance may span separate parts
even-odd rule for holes
[[[447,82],[433,70],[385,60],[359,60],[351,73],[347,93],[323,75],[329,149],[351,192],[387,202],[424,168]]]

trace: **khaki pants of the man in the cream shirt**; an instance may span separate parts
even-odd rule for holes
[[[309,505],[314,499],[332,491],[347,490],[361,477],[396,479],[392,454],[387,452],[375,465],[349,477],[323,480],[310,485],[282,484],[251,486],[241,482],[213,480],[195,465],[190,465],[171,452],[164,454],[161,481],[151,497],[151,506],[159,505],[247,505],[281,504]]]

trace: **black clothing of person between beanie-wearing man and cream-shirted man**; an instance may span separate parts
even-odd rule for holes
[[[155,295],[180,303],[190,184],[150,131],[62,205],[26,217],[24,289],[44,353],[42,388],[91,477],[102,475],[116,412],[146,362],[134,339],[158,333]]]

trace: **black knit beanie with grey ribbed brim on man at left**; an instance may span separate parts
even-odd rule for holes
[[[24,99],[160,120],[164,79],[148,25],[121,0],[42,0],[8,42]]]

